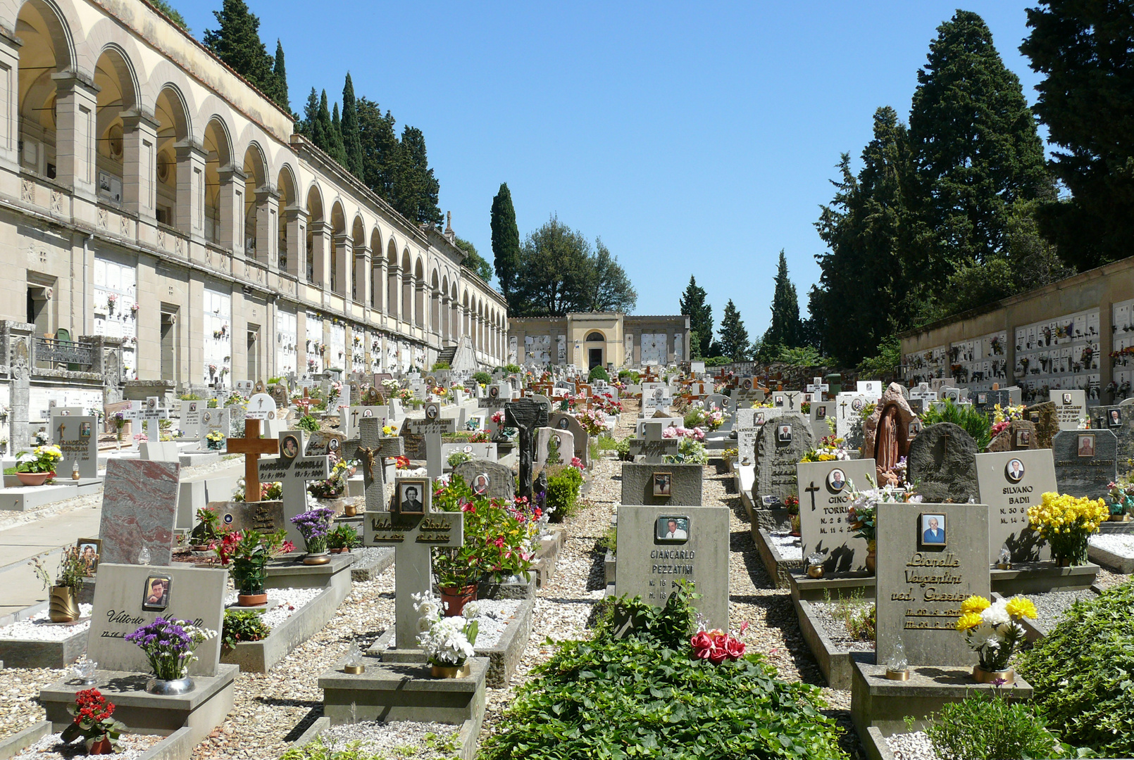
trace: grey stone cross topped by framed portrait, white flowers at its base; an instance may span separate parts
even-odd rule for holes
[[[365,513],[366,546],[393,547],[393,638],[398,649],[417,649],[417,613],[414,594],[433,589],[433,547],[465,543],[463,512]]]

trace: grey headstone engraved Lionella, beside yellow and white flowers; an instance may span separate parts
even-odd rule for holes
[[[924,541],[930,516],[943,544]],[[970,596],[990,596],[988,506],[883,502],[877,520],[874,661],[886,665],[900,637],[909,665],[974,665],[957,617]]]

